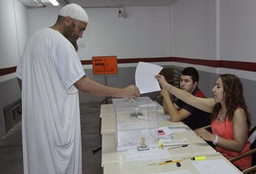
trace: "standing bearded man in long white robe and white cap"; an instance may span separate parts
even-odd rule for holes
[[[134,85],[113,88],[86,77],[76,41],[87,23],[82,7],[63,7],[53,27],[30,37],[20,58],[16,74],[22,88],[25,174],[82,174],[79,90],[99,96],[139,97]]]

